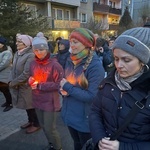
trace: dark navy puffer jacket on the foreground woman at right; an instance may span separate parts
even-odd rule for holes
[[[115,84],[114,72],[104,79],[90,113],[90,129],[95,144],[110,137],[120,126],[136,101],[142,100],[150,90],[150,71],[132,82],[132,90],[121,92]],[[150,149],[150,98],[146,106],[131,121],[117,139],[120,150]]]

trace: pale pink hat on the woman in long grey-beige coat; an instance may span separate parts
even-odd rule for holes
[[[17,36],[17,39],[23,42],[27,47],[30,47],[32,44],[32,37],[29,35],[21,34]]]

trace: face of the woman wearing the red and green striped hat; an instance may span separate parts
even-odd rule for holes
[[[72,49],[72,54],[77,54],[85,49],[85,46],[75,38],[70,40],[70,47]]]

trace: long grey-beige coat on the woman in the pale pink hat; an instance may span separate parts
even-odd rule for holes
[[[20,109],[31,109],[32,90],[28,85],[29,67],[34,59],[31,48],[14,55],[12,71],[10,74],[10,86],[13,105]]]

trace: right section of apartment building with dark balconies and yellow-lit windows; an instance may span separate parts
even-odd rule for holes
[[[104,30],[108,36],[116,35],[121,17],[121,0],[95,0],[93,16],[101,23],[100,30]]]

